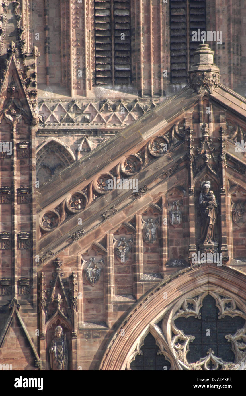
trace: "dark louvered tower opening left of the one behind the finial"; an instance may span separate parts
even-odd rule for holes
[[[130,10],[130,0],[95,0],[97,85],[131,83]]]

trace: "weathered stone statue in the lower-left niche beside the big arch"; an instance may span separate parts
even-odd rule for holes
[[[62,327],[55,328],[55,338],[49,347],[50,366],[53,371],[63,371],[68,369],[68,346],[66,335],[63,334]]]

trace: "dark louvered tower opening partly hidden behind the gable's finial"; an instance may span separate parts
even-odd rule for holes
[[[172,83],[187,83],[193,53],[201,44],[194,30],[206,30],[206,0],[170,0],[170,71]]]

